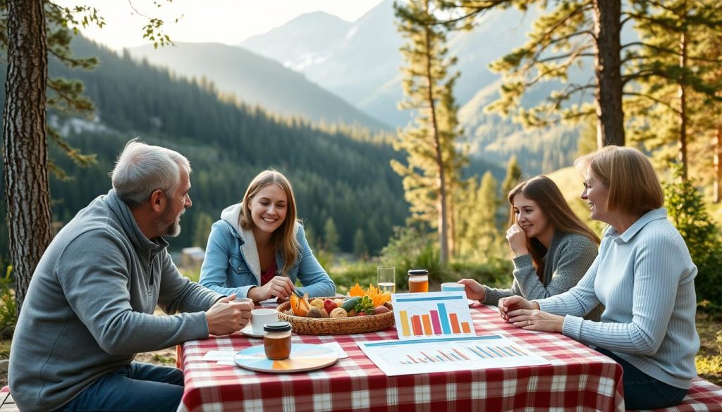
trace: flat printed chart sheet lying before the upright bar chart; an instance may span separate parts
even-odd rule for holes
[[[499,335],[359,342],[358,346],[387,376],[549,364]]]

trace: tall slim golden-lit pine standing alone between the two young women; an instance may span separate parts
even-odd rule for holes
[[[400,107],[417,111],[414,124],[399,133],[393,147],[406,152],[406,165],[392,160],[393,170],[404,177],[406,201],[412,219],[427,222],[438,231],[439,260],[446,263],[453,244],[451,190],[458,187],[464,156],[457,152],[458,128],[453,85],[458,73],[449,70],[456,58],[447,58],[445,30],[437,25],[430,0],[394,3],[397,27],[407,40],[401,48],[407,66],[405,100]]]

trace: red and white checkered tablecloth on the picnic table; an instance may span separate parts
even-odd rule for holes
[[[272,374],[204,361],[211,350],[262,344],[238,333],[183,344],[186,387],[178,411],[623,411],[622,367],[557,333],[503,322],[471,307],[477,335],[500,334],[550,364],[387,377],[357,341],[396,339],[396,329],[339,336],[294,335],[294,342],[338,342],[349,355],[312,372]]]

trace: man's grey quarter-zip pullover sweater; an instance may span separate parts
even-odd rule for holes
[[[168,243],[147,239],[114,190],[55,237],[30,281],[9,385],[21,411],[53,411],[136,352],[208,336],[221,295],[181,276]],[[178,315],[152,315],[156,304]]]

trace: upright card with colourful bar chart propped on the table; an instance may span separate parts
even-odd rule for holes
[[[476,336],[466,292],[392,294],[401,341]]]

